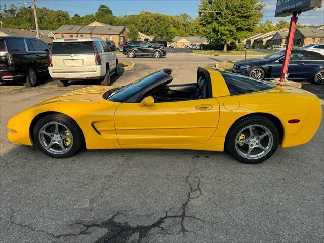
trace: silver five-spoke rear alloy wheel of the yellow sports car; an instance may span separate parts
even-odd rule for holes
[[[273,134],[263,125],[250,125],[240,130],[235,138],[235,149],[247,159],[259,159],[273,146]]]

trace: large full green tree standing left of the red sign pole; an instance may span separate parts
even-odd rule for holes
[[[224,44],[237,42],[242,33],[252,32],[263,16],[259,0],[201,0],[198,12],[204,37]]]

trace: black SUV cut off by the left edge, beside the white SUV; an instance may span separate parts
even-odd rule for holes
[[[38,76],[48,75],[50,48],[40,39],[22,36],[0,37],[0,82],[37,85]]]

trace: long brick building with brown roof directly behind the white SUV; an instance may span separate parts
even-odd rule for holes
[[[55,31],[55,38],[99,37],[106,41],[114,41],[120,45],[128,41],[127,29],[124,26],[112,26],[93,22],[87,26],[62,25]]]

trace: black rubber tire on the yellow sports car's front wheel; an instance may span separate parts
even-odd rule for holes
[[[40,130],[46,126],[47,124],[50,123],[59,123],[62,124],[63,126],[65,126],[69,133],[72,135],[71,138],[71,143],[68,147],[68,150],[65,152],[65,150],[62,150],[62,153],[57,154],[55,152],[51,152],[49,151],[51,148],[55,149],[61,149],[60,146],[58,145],[59,143],[62,144],[62,146],[66,145],[64,139],[62,139],[62,141],[57,141],[58,143],[54,143],[52,146],[50,146],[48,149],[45,148],[45,145],[42,141],[42,138],[40,135]],[[54,126],[54,125],[53,125]],[[62,131],[64,131],[64,127],[61,126],[60,129]],[[65,128],[65,129],[66,129]],[[66,131],[65,131],[66,132]],[[53,133],[54,134],[54,133]],[[61,132],[58,133],[58,136],[62,135]],[[64,133],[62,136],[67,135],[66,133]],[[48,135],[47,135],[48,136]],[[47,137],[44,135],[44,137]],[[56,136],[56,135],[54,135]],[[57,137],[54,137],[53,139],[56,139]],[[73,154],[75,154],[76,152],[78,152],[80,150],[80,148],[82,147],[82,145],[84,144],[84,136],[83,133],[81,131],[81,129],[79,128],[79,126],[77,125],[77,123],[71,119],[70,117],[64,115],[64,114],[59,114],[59,113],[54,113],[54,114],[49,114],[44,116],[43,118],[41,118],[35,125],[34,130],[33,130],[33,139],[35,142],[35,145],[46,155],[53,157],[53,158],[67,158],[72,156]],[[52,138],[50,136],[48,136],[49,142],[51,142]],[[60,139],[60,138],[57,138]],[[46,142],[46,141],[45,141]],[[49,145],[49,144],[48,144]]]

